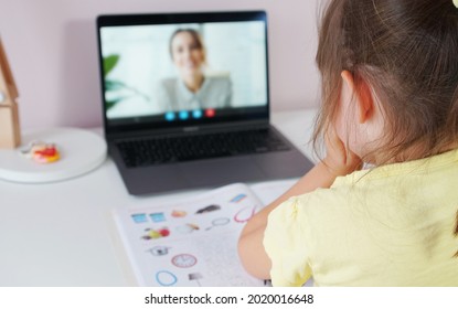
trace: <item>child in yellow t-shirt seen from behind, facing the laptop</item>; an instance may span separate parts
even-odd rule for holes
[[[251,274],[274,286],[458,286],[457,2],[330,1],[313,138],[327,154],[245,226]]]

